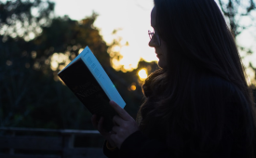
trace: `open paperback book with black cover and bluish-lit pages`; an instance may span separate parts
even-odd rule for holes
[[[62,69],[58,76],[89,112],[104,117],[103,127],[110,131],[117,113],[109,101],[114,100],[121,108],[126,106],[126,102],[89,47]]]

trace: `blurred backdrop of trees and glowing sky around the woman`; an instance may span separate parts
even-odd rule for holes
[[[216,0],[256,87],[255,0]],[[158,69],[148,46],[153,0],[0,0],[0,127],[94,129],[57,76],[89,46],[132,116],[144,79]]]

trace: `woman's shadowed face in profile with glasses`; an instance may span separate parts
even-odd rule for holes
[[[151,26],[155,30],[155,26],[156,26],[156,8],[155,7],[153,7],[153,9],[151,11]],[[156,32],[154,34],[154,36],[152,37],[152,39],[149,41],[148,45],[151,47],[155,47],[155,54],[156,54],[156,57],[159,59],[158,65],[161,68],[165,68],[165,67],[167,67],[167,53],[168,53],[167,43],[165,41],[163,41],[160,37],[157,37],[157,36],[158,36],[158,34]],[[160,40],[160,46],[157,45],[157,41],[156,41],[157,38],[158,38],[158,40]]]

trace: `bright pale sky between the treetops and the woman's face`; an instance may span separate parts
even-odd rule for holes
[[[158,60],[154,48],[148,46],[148,30],[153,0],[54,0],[56,16],[68,15],[73,20],[82,20],[95,11],[99,14],[95,26],[107,43],[122,37],[120,52],[123,59],[119,64],[125,69],[136,68],[142,58]],[[113,35],[114,30],[119,30]],[[125,44],[128,42],[128,46]],[[118,50],[119,47],[116,47]],[[116,63],[118,64],[118,63]]]

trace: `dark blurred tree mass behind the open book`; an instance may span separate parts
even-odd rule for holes
[[[137,82],[134,77],[136,72],[128,75],[115,72],[111,67],[107,53],[109,46],[102,40],[99,29],[93,25],[98,15],[92,13],[81,21],[70,20],[67,16],[44,17],[43,15],[50,14],[49,10],[53,11],[52,4],[47,5],[46,12],[41,12],[42,16],[34,16],[32,7],[37,10],[41,8],[39,2],[41,1],[17,0],[1,3],[4,9],[2,11],[7,14],[2,17],[1,25],[9,26],[7,29],[16,27],[19,22],[24,22],[20,28],[26,29],[26,21],[34,21],[38,17],[43,17],[42,20],[47,18],[48,22],[47,25],[41,24],[40,20],[35,23],[40,28],[40,33],[26,30],[27,34],[36,34],[29,40],[26,33],[23,36],[10,32],[0,35],[0,82],[5,83],[0,86],[0,125],[91,129],[90,113],[71,90],[61,84],[57,76],[67,62],[74,59],[85,46],[89,46],[100,60],[120,94],[128,100],[128,112],[135,117],[142,99],[141,89],[128,93],[128,87],[134,81]],[[11,16],[12,13],[16,16]],[[13,22],[8,23],[11,18]],[[28,26],[35,24],[32,22]],[[55,66],[53,63],[56,63]]]

